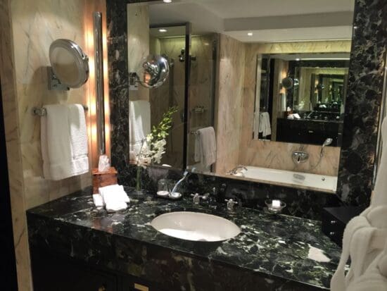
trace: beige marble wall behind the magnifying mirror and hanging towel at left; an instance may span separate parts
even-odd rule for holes
[[[85,47],[92,35],[86,30],[91,12],[104,12],[106,7],[103,0],[87,2],[0,1],[0,73],[19,290],[32,290],[26,209],[91,184],[90,174],[56,182],[42,178],[40,119],[32,115],[32,107],[43,104],[90,105],[89,86],[94,84],[69,92],[49,91],[44,68],[49,66],[49,45],[54,39],[72,39]],[[89,136],[90,116],[88,112]]]

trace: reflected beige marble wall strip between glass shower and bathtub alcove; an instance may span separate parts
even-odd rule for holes
[[[242,102],[245,98],[243,82],[246,82],[245,47],[245,44],[236,39],[220,35],[219,80],[215,106],[217,109],[215,111],[217,136],[215,172],[218,174],[226,173],[239,163],[239,151],[243,145],[241,133],[244,116]],[[250,77],[249,75],[248,78]]]

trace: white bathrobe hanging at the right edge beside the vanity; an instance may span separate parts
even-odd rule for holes
[[[332,291],[387,291],[387,118],[381,163],[371,205],[346,225],[343,252],[331,279]],[[350,271],[345,264],[350,259]]]

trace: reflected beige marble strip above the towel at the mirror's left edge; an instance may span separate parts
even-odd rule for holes
[[[129,73],[137,72],[149,54],[148,4],[127,4],[127,53]],[[149,89],[139,85],[137,91],[129,91],[129,99],[148,101]]]

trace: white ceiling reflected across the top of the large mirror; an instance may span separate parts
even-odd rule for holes
[[[354,0],[173,0],[149,4],[151,25],[190,22],[193,34],[221,32],[241,42],[352,36]]]

